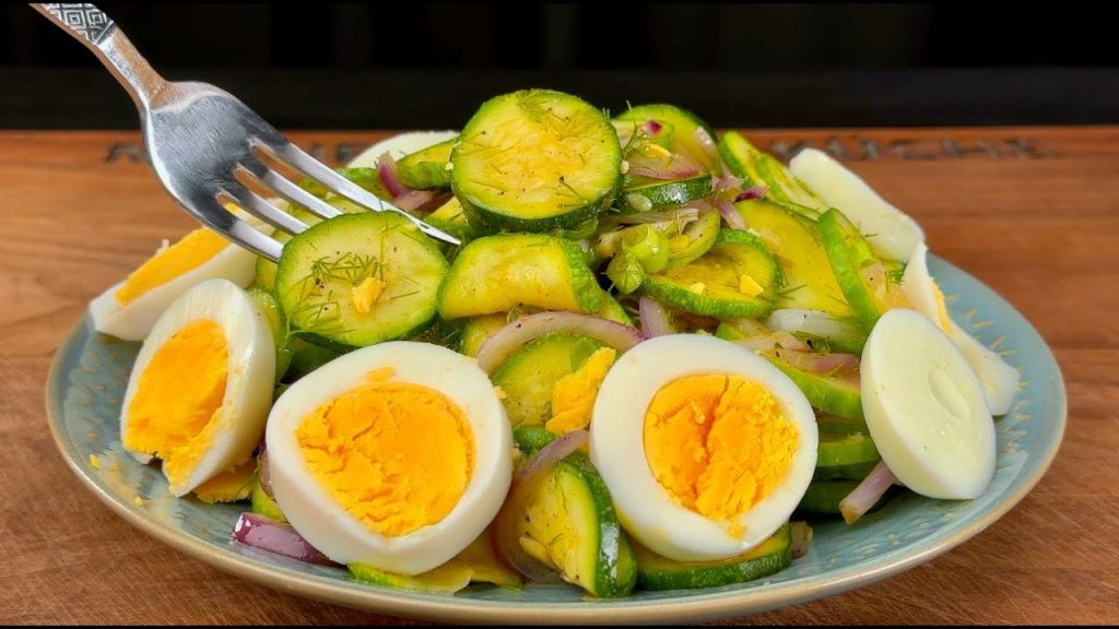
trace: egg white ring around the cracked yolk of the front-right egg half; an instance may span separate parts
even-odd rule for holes
[[[745,529],[741,537],[731,535],[725,523],[677,504],[645,453],[645,416],[653,396],[671,381],[700,374],[735,374],[761,383],[799,433],[788,476],[736,520]],[[789,519],[812,479],[818,439],[805,394],[768,360],[715,337],[667,335],[638,344],[606,374],[591,420],[591,459],[619,519],[641,544],[676,561],[714,561],[749,551]]]

